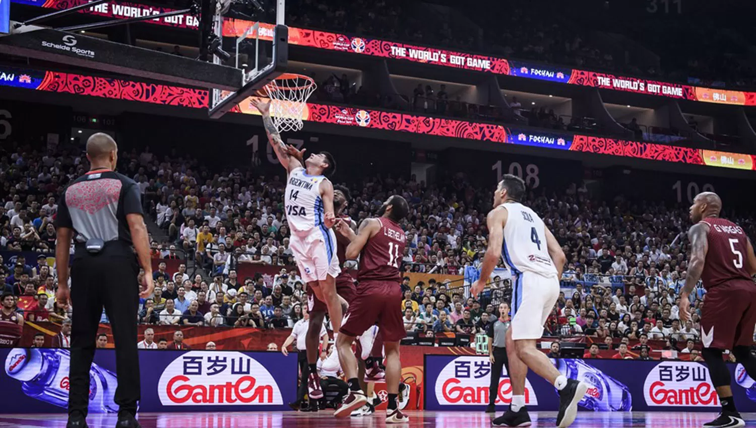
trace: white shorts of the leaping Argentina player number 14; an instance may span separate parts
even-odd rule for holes
[[[324,281],[328,275],[336,278],[341,273],[336,257],[336,233],[332,229],[318,227],[304,235],[292,233],[289,248],[305,282]]]

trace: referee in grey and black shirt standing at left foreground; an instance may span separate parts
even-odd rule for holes
[[[140,264],[147,285],[141,297],[153,291],[147,227],[142,218],[139,186],[114,172],[118,146],[113,138],[101,133],[89,137],[87,159],[91,170],[67,186],[57,211],[56,298],[59,302],[72,300],[75,308],[67,428],[87,427],[89,370],[103,307],[116,344],[116,426],[135,428],[140,426],[135,419],[140,399],[136,323]],[[69,288],[71,239],[76,251]]]

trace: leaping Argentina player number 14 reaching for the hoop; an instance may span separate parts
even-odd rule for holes
[[[280,138],[270,115],[270,101],[253,100],[262,114],[268,140],[279,162],[287,169],[284,211],[291,229],[289,248],[294,255],[299,275],[315,297],[326,303],[333,331],[339,331],[342,306],[336,294],[339,259],[336,257],[336,236],[333,225],[333,184],[327,176],[333,174],[336,162],[329,152],[310,155],[302,161],[302,152],[287,147]],[[303,165],[304,164],[304,165]]]

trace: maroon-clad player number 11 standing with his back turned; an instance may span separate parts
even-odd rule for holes
[[[357,359],[352,353],[355,337],[377,322],[383,334],[386,349],[386,390],[389,406],[386,423],[403,423],[409,418],[397,408],[397,396],[401,381],[399,341],[404,338],[404,323],[401,321],[401,255],[407,237],[398,222],[407,216],[409,205],[401,196],[389,197],[381,206],[378,218],[364,220],[357,234],[339,221],[336,228],[349,236],[346,257],[355,259],[360,254],[360,270],[357,279],[360,292],[352,300],[344,322],[336,338],[341,367],[349,383],[349,395],[341,407],[333,413],[336,417],[349,416],[355,408],[367,402],[357,378]]]

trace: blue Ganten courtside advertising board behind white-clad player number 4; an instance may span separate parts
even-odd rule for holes
[[[589,385],[581,409],[593,411],[719,411],[720,402],[703,363],[552,359],[559,372]],[[740,411],[756,411],[756,384],[742,365],[727,364],[736,379],[733,396]],[[426,410],[479,410],[488,405],[491,362],[488,356],[425,356]],[[497,405],[512,401],[512,385],[503,368]],[[556,389],[528,372],[525,405],[556,411]]]

